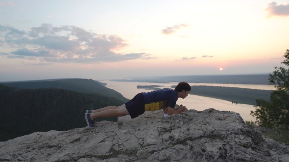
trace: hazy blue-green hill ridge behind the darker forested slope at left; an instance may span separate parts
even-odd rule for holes
[[[97,93],[107,97],[114,97],[121,101],[128,101],[119,92],[99,84],[99,81],[92,79],[62,79],[55,81],[18,81],[18,82],[0,82],[3,85],[18,88],[59,88],[82,93]],[[105,83],[104,83],[105,84]]]

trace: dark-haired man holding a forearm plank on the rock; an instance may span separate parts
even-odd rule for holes
[[[191,91],[191,86],[185,82],[179,82],[175,89],[164,88],[157,91],[139,93],[132,100],[121,106],[107,106],[97,110],[86,110],[85,119],[90,128],[96,127],[93,119],[100,117],[121,117],[130,115],[131,119],[145,113],[163,109],[166,114],[179,114],[186,111],[186,106],[180,105],[174,109],[178,98],[185,99]]]

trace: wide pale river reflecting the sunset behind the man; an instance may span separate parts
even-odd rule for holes
[[[177,85],[177,82],[172,83],[150,83],[150,82],[129,82],[129,81],[109,81],[103,80],[101,82],[107,83],[106,87],[114,89],[121,93],[127,99],[132,99],[140,92],[150,92],[151,90],[138,89],[137,85],[163,85],[160,88],[170,88],[171,85]],[[190,85],[212,85],[212,86],[227,86],[262,90],[275,90],[273,85],[251,85],[251,84],[216,84],[216,83],[189,83]],[[250,111],[254,111],[255,107],[248,104],[235,104],[230,101],[188,95],[185,99],[179,98],[177,104],[183,104],[188,109],[195,109],[202,111],[208,108],[214,108],[221,111],[234,111],[241,115],[244,121],[256,121],[254,117],[250,116]]]

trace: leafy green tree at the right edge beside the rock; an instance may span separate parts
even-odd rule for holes
[[[284,56],[286,59],[282,62],[289,66],[289,50],[286,50]],[[289,68],[274,67],[276,70],[269,74],[269,84],[275,85],[276,91],[270,94],[270,101],[262,99],[256,100],[255,111],[250,115],[256,117],[256,123],[260,126],[289,131]],[[282,127],[282,129],[280,129]]]

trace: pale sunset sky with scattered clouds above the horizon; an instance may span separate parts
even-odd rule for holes
[[[286,49],[288,0],[0,0],[0,81],[267,74]]]

